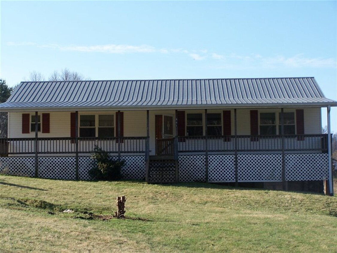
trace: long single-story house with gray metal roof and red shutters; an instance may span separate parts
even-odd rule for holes
[[[313,77],[21,82],[0,172],[90,180],[98,145],[125,179],[332,194],[332,106]]]

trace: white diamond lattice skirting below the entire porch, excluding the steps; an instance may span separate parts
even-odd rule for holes
[[[117,160],[117,157],[113,157]],[[122,156],[123,179],[145,180],[145,156]],[[179,156],[179,181],[206,181],[205,155]],[[79,157],[79,179],[91,180],[90,157]],[[35,175],[35,157],[0,157],[0,173],[20,176]],[[75,179],[75,157],[38,157],[38,176],[54,179]],[[328,154],[286,154],[285,180],[326,180],[329,177]],[[209,182],[235,181],[234,155],[209,155]],[[239,154],[239,182],[282,181],[281,154]]]

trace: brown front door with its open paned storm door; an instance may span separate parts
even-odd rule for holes
[[[173,138],[173,116],[156,115],[156,155],[166,154],[167,143],[165,139]]]

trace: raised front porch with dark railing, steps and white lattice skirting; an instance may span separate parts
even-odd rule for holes
[[[125,160],[124,179],[147,182],[281,182],[327,180],[328,135],[8,138],[0,140],[0,171],[90,180],[97,145]]]

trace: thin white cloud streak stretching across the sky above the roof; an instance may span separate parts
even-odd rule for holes
[[[209,53],[209,50],[186,50],[182,48],[155,48],[150,45],[124,45],[124,44],[106,44],[106,45],[67,45],[45,44],[38,45],[33,42],[7,42],[8,46],[35,46],[40,48],[52,48],[60,51],[78,51],[92,53],[108,53],[108,54],[128,54],[128,53],[160,53],[160,54],[183,54],[191,57],[193,60],[217,60],[218,64],[215,68],[228,69],[249,69],[249,68],[336,68],[337,63],[335,58],[323,57],[305,57],[303,54],[294,56],[263,56],[261,54],[239,55],[231,53],[228,55],[218,54],[216,52]]]

